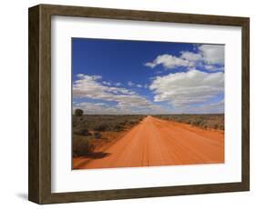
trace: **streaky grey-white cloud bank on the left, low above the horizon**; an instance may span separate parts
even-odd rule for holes
[[[86,113],[98,114],[136,114],[140,112],[155,113],[164,111],[159,105],[152,104],[145,97],[126,88],[109,86],[99,75],[77,75],[78,79],[73,83],[74,98],[89,98],[114,102],[115,105],[94,105],[95,103],[76,103],[74,107],[80,107]],[[107,108],[108,107],[108,108]]]

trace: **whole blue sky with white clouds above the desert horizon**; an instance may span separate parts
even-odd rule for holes
[[[73,108],[223,113],[224,45],[72,38]]]

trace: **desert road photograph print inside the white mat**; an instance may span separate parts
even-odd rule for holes
[[[71,42],[73,169],[225,163],[225,45]]]

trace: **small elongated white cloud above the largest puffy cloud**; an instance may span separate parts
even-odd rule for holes
[[[153,62],[148,62],[145,64],[151,68],[154,68],[157,65],[163,65],[167,69],[171,69],[177,66],[192,66],[192,63],[186,59],[179,58],[174,55],[159,55]]]

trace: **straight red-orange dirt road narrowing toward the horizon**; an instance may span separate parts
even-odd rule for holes
[[[73,166],[87,169],[224,163],[224,134],[147,116],[104,153],[102,158],[79,160]]]

